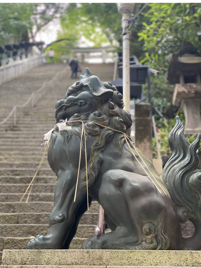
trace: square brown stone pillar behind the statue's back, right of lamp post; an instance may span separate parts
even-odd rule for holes
[[[135,106],[135,146],[152,161],[150,109],[149,103],[139,103]]]

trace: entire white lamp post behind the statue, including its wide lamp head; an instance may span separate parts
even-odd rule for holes
[[[122,14],[122,30],[126,33],[128,30],[128,20],[133,12],[134,3],[117,3],[118,12]],[[122,38],[123,47],[123,100],[124,109],[130,111],[130,47],[129,33],[124,34]]]

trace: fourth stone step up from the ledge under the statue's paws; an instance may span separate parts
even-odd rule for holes
[[[18,213],[18,212],[51,212],[53,202],[0,202],[1,213]],[[99,204],[92,202],[89,212],[96,213],[99,211]]]

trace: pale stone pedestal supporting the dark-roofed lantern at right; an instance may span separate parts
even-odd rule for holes
[[[201,132],[201,83],[176,84],[173,105],[180,106],[185,115],[184,134]]]

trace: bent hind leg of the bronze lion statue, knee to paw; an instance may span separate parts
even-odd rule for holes
[[[130,174],[123,170],[109,170],[103,175],[99,201],[116,229],[100,238],[91,237],[84,242],[84,249],[133,249],[138,244],[138,231],[127,199],[130,196],[126,196],[135,194],[129,184]]]

